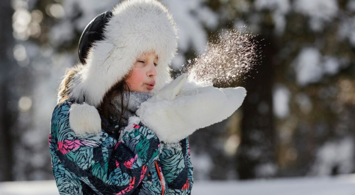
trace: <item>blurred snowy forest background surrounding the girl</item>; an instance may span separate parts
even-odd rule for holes
[[[196,190],[226,185],[253,195],[285,186],[279,193],[291,195],[300,183],[355,194],[354,175],[338,176],[355,173],[355,0],[161,1],[179,30],[173,74],[222,29],[247,29],[259,41],[258,65],[232,83],[248,91],[242,107],[190,137]],[[79,60],[86,24],[117,2],[1,1],[0,181],[53,179],[56,90]],[[0,194],[8,188],[0,183]]]

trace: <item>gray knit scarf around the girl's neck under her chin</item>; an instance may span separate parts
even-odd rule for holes
[[[127,93],[129,93],[129,96],[127,96]],[[127,126],[128,125],[128,118],[132,117],[136,114],[136,111],[138,110],[140,104],[149,98],[151,98],[153,94],[149,93],[143,93],[143,92],[125,92],[123,95],[123,108],[127,106],[126,112],[123,113],[122,115],[122,125]],[[129,97],[129,98],[128,98]],[[128,105],[127,105],[128,101]],[[112,103],[115,105],[116,109],[114,109],[114,112],[117,116],[120,116],[120,113],[122,112],[121,110],[121,97],[118,96],[112,100]]]

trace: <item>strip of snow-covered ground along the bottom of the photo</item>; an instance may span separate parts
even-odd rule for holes
[[[199,181],[192,195],[355,195],[355,174],[252,181]],[[54,180],[0,183],[0,195],[59,195]]]

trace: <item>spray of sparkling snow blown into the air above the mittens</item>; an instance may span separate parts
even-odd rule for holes
[[[259,41],[246,30],[223,30],[216,42],[208,42],[205,51],[182,68],[189,80],[228,86],[240,80],[260,62]]]

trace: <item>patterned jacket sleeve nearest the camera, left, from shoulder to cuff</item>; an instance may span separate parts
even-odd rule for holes
[[[119,141],[103,131],[78,136],[70,129],[69,109],[70,103],[63,103],[52,116],[51,155],[60,161],[55,166],[98,194],[131,194],[158,159],[158,137],[142,125],[126,128]]]

